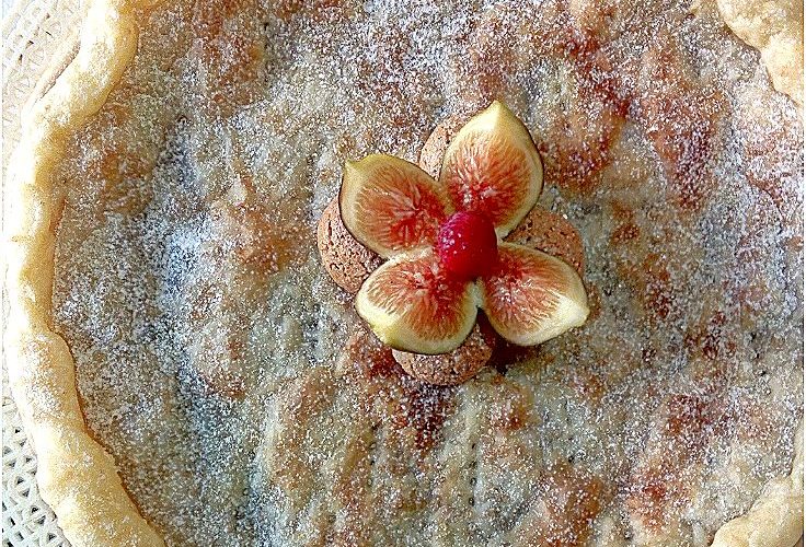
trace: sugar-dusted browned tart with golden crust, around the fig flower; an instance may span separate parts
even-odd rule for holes
[[[96,0],[83,24],[24,121],[8,245],[10,382],[73,545],[802,535],[802,11]],[[589,314],[532,347],[480,323],[486,366],[436,385],[316,233],[346,161],[435,176],[496,100],[544,167],[510,236]],[[355,287],[381,263],[339,249]]]

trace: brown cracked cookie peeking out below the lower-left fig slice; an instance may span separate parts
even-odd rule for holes
[[[497,337],[488,325],[477,322],[457,349],[438,356],[392,350],[398,364],[415,379],[436,385],[459,385],[475,376],[493,356]]]

